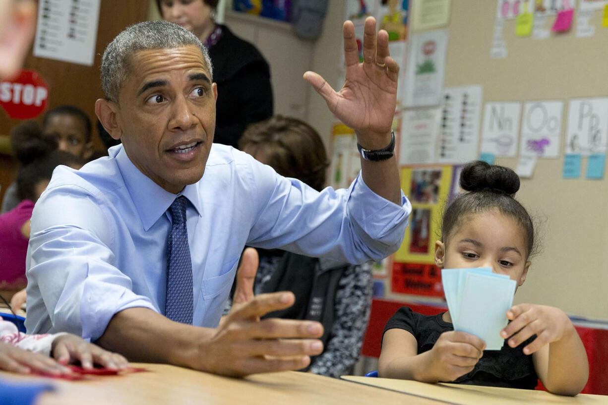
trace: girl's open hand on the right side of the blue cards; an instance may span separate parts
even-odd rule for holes
[[[553,306],[529,303],[514,305],[506,311],[506,317],[512,322],[500,331],[500,336],[506,339],[513,335],[508,341],[511,347],[517,347],[536,334],[536,339],[523,348],[526,355],[559,341],[565,334],[576,333],[564,311]]]

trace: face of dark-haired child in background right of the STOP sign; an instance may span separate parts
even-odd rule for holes
[[[46,136],[57,140],[59,150],[88,159],[93,152],[92,144],[86,138],[86,125],[72,114],[52,114],[43,128]]]

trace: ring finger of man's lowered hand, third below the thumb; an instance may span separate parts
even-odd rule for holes
[[[238,350],[238,353],[245,357],[264,355],[283,358],[317,356],[323,351],[323,343],[317,339],[262,339],[237,343],[235,350]]]

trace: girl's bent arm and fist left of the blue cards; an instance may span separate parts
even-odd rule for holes
[[[469,333],[449,331],[439,336],[433,348],[418,355],[413,334],[389,329],[382,338],[378,376],[414,379],[424,383],[454,381],[473,370],[483,355],[485,343]]]

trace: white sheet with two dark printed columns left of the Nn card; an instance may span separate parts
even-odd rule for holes
[[[458,164],[477,159],[482,86],[446,88],[442,100],[438,162]]]

